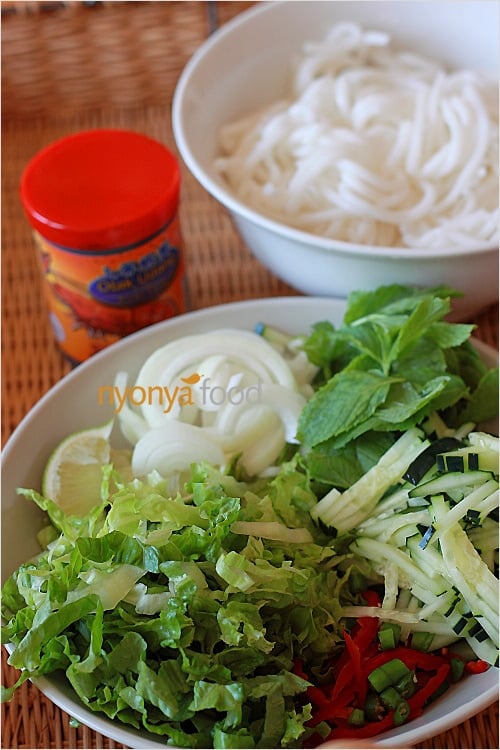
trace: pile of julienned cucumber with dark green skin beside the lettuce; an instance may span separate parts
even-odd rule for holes
[[[398,623],[402,640],[427,632],[433,649],[464,638],[478,658],[498,665],[499,482],[492,456],[499,439],[476,432],[461,438],[460,448],[441,442],[432,451],[418,431],[403,437],[350,491],[332,490],[313,513],[333,536],[355,534],[351,552],[370,560],[385,583],[381,608],[352,606],[343,614]],[[401,445],[412,446],[402,469]],[[440,458],[456,453],[464,461],[450,471]],[[480,468],[471,470],[473,453]]]

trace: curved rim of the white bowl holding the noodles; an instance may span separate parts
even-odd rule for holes
[[[394,3],[394,0],[392,0],[392,2]],[[186,102],[189,101],[190,98],[189,86],[192,79],[196,77],[197,72],[203,67],[206,57],[213,53],[221,40],[231,36],[236,30],[245,26],[246,23],[251,21],[254,17],[265,15],[270,12],[272,13],[276,6],[286,6],[288,4],[289,0],[262,2],[238,14],[209,36],[196,49],[182,70],[172,99],[172,129],[179,153],[198,182],[227,210],[236,216],[256,224],[259,228],[279,235],[282,238],[291,240],[297,244],[308,244],[326,254],[338,253],[346,256],[354,255],[367,257],[372,260],[375,258],[393,260],[407,258],[409,260],[426,259],[433,262],[443,258],[459,258],[462,256],[498,253],[499,247],[494,243],[487,242],[474,243],[474,245],[461,247],[425,249],[404,247],[401,245],[393,247],[384,245],[363,245],[313,234],[312,232],[297,229],[278,221],[277,219],[260,214],[256,209],[253,209],[251,206],[237,198],[227,186],[212,176],[212,173],[207,171],[199,163],[194,156],[184,125],[187,117],[185,107]]]

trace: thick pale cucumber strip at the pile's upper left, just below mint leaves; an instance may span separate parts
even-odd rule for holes
[[[338,533],[353,529],[370,515],[390,487],[401,482],[408,464],[428,445],[419,429],[408,430],[351,487],[340,494],[328,493],[320,500],[312,517]]]

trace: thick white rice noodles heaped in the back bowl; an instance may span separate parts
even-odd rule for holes
[[[216,168],[264,215],[358,244],[498,243],[498,89],[340,23],[291,95],[226,125]]]

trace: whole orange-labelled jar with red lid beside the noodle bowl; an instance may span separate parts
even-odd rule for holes
[[[179,195],[176,157],[127,130],[67,136],[27,165],[21,200],[52,327],[73,362],[184,312]]]

